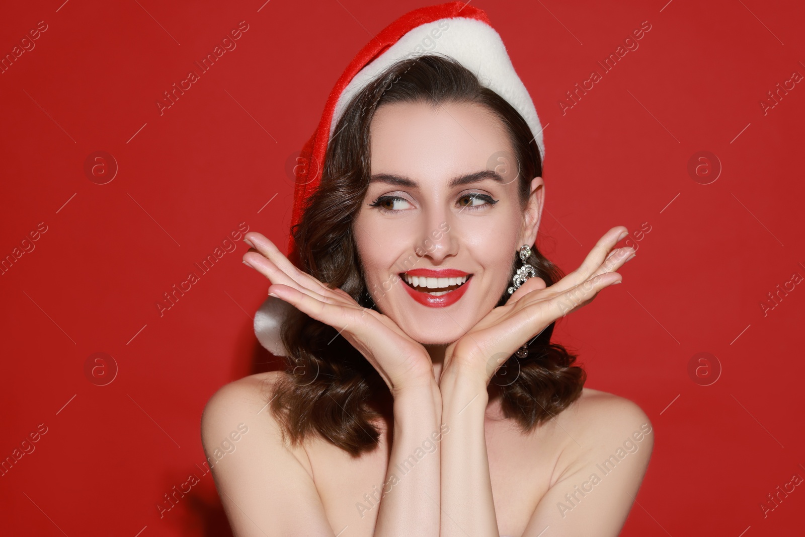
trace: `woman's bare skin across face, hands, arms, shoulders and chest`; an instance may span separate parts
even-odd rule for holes
[[[525,212],[515,177],[452,182],[488,169],[488,155],[511,151],[499,120],[475,105],[381,106],[371,136],[373,177],[409,179],[369,184],[353,229],[367,286],[383,289],[372,293],[382,313],[299,271],[260,233],[247,233],[253,248],[244,261],[270,279],[270,293],[338,328],[378,370],[391,394],[376,423],[381,444],[355,459],[324,439],[283,445],[265,407],[271,383],[284,373],[224,386],[204,409],[202,440],[214,455],[238,423],[250,427],[237,453],[213,467],[235,535],[617,535],[653,445],[645,413],[585,389],[523,434],[502,415],[490,381],[499,366],[494,357],[509,357],[621,281],[615,271],[634,254],[614,248],[626,229],[609,229],[559,282],[528,279],[494,308],[518,246],[535,242],[542,178],[531,180]],[[380,211],[371,202],[382,195],[394,200]],[[440,222],[450,233],[436,238],[431,230]],[[473,275],[447,308],[415,302],[398,277],[389,291],[378,285],[393,279],[426,237],[433,239],[419,266]],[[401,469],[405,461],[411,467]],[[381,490],[387,494],[378,502]]]

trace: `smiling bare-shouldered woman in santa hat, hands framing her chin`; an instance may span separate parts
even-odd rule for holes
[[[418,43],[411,27],[445,22],[441,51],[398,50]],[[293,262],[246,234],[244,262],[291,312],[277,345],[287,370],[232,382],[204,409],[233,532],[617,535],[650,422],[583,388],[550,337],[620,283],[627,229],[560,278],[534,246],[545,189],[533,104],[461,56],[489,38],[483,12],[454,2],[389,28],[372,45],[386,52],[362,51],[336,84],[326,143],[306,146]],[[451,52],[450,39],[463,44]],[[237,452],[213,458],[238,424]]]

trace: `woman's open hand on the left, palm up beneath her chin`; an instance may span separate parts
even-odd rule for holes
[[[269,295],[336,328],[378,370],[392,394],[436,382],[427,350],[389,317],[300,271],[265,235],[251,231],[244,242],[252,248],[243,261],[270,280]]]

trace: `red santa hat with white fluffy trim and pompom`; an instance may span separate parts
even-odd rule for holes
[[[526,120],[544,159],[543,129],[534,102],[514,71],[506,47],[485,12],[466,2],[423,7],[404,14],[370,39],[332,88],[319,126],[299,155],[299,162],[304,165],[295,167],[291,229],[299,223],[305,203],[316,192],[328,143],[352,97],[394,62],[431,52],[451,56],[473,72],[481,85],[508,101]],[[287,257],[300,266],[299,252],[292,236],[288,240]],[[278,346],[279,336],[270,336],[278,334],[278,308],[282,306],[270,303],[269,298],[260,308],[254,319],[254,328],[262,345],[272,353],[283,355]]]

